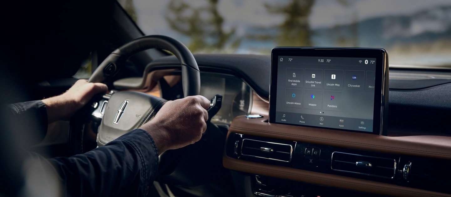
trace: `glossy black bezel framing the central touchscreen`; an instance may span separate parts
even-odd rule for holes
[[[269,94],[269,123],[295,125],[276,122],[277,65],[279,56],[311,56],[311,57],[345,57],[345,58],[376,58],[376,79],[373,104],[373,131],[358,131],[327,128],[310,125],[300,127],[315,127],[332,130],[345,130],[366,134],[387,135],[388,116],[388,56],[384,49],[369,48],[310,48],[310,47],[276,47],[271,53],[271,84]]]

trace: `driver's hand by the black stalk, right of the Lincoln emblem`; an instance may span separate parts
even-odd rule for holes
[[[207,130],[207,108],[210,101],[203,96],[189,96],[168,101],[156,116],[140,127],[149,133],[161,154],[199,141]]]

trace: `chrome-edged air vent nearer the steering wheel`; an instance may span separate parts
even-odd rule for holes
[[[258,157],[275,161],[290,162],[293,146],[290,144],[264,142],[253,139],[243,139],[241,155]]]

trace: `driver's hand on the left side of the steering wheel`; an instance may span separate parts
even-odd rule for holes
[[[46,104],[48,123],[69,120],[77,110],[91,100],[92,96],[107,91],[108,87],[105,84],[88,83],[84,79],[78,80],[65,93],[42,100]]]

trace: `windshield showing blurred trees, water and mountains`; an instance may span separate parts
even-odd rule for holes
[[[119,0],[146,35],[193,53],[383,48],[391,65],[450,67],[450,0]]]

